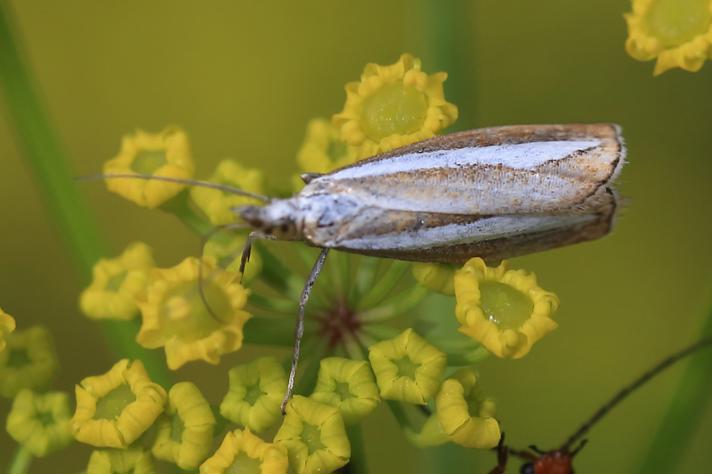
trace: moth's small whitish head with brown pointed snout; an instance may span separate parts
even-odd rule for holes
[[[239,216],[252,228],[280,240],[298,240],[298,207],[291,199],[275,199],[265,206],[241,206]]]

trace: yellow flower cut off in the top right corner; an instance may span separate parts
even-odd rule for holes
[[[676,67],[699,71],[712,57],[712,0],[633,0],[625,19],[628,54],[657,57],[655,75]]]

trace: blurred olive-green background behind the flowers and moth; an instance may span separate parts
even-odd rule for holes
[[[529,356],[480,365],[514,446],[558,445],[623,383],[700,332],[712,304],[712,65],[653,78],[652,63],[625,54],[627,2],[3,1],[76,175],[99,171],[126,132],[179,124],[190,134],[198,176],[234,157],[286,186],[306,121],[340,111],[343,85],[367,62],[389,64],[402,52],[423,58],[426,71],[450,73],[446,96],[460,107],[458,129],[620,123],[629,147],[619,186],[627,204],[612,235],[513,262],[535,271],[562,302],[559,330]],[[51,328],[62,366],[56,386],[71,390],[115,356],[99,326],[78,313],[85,282],[4,112],[0,305],[21,327]],[[134,240],[152,245],[164,266],[197,253],[198,238],[170,216],[100,184],[81,192],[112,253]],[[179,378],[202,374],[201,387],[215,399],[227,384],[225,367],[254,354],[233,354],[217,368],[192,364]],[[681,369],[595,427],[577,472],[638,472]],[[8,408],[0,402],[0,419]],[[712,461],[712,404],[698,416],[676,473],[698,473]],[[494,464],[487,452],[418,451],[386,412],[370,418],[365,436],[375,473],[486,472]],[[11,450],[1,434],[0,466]],[[81,471],[88,452],[74,446],[33,472]]]

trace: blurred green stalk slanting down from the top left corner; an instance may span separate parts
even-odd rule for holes
[[[87,281],[94,263],[106,255],[106,246],[77,191],[68,160],[34,88],[35,81],[23,60],[15,33],[10,8],[7,2],[0,0],[0,87],[8,119],[14,126],[23,157],[39,182],[58,233],[81,277]],[[113,352],[141,359],[155,381],[168,384],[170,378],[162,359],[136,344],[137,328],[137,323],[102,323]]]

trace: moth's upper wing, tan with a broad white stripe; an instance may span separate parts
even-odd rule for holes
[[[623,163],[615,125],[532,125],[434,137],[312,180],[392,210],[467,215],[558,211],[607,187]]]

